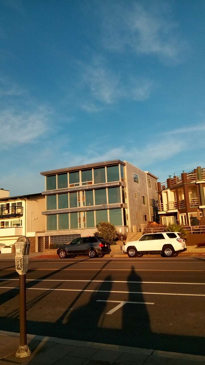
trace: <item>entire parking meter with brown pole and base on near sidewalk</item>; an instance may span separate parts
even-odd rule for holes
[[[30,242],[26,236],[20,236],[15,242],[16,271],[19,273],[19,327],[20,345],[16,351],[16,357],[27,357],[31,350],[27,345],[26,335],[26,273],[28,271],[28,260]]]

